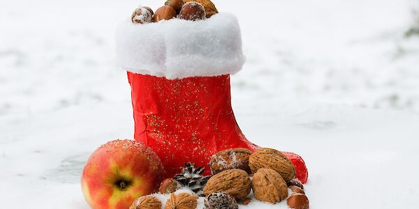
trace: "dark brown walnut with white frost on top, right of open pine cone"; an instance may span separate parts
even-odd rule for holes
[[[247,148],[232,148],[212,155],[210,167],[212,174],[228,169],[242,169],[250,173],[249,157],[251,151]]]

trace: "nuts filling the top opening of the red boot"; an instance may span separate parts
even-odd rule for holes
[[[156,12],[148,6],[136,8],[131,15],[131,21],[135,24],[145,24],[177,17],[182,20],[196,21],[204,20],[216,13],[218,10],[210,0],[168,0]]]

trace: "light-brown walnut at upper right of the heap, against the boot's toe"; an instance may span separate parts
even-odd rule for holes
[[[249,157],[249,167],[252,173],[258,169],[272,169],[277,171],[285,182],[293,180],[295,177],[295,167],[288,158],[272,148],[260,148]]]

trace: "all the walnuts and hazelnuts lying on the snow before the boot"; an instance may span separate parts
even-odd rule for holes
[[[272,148],[260,148],[251,153],[245,148],[223,150],[210,160],[212,176],[203,189],[204,208],[237,209],[239,204],[247,205],[251,199],[247,196],[253,190],[258,201],[279,203],[287,199],[290,208],[308,209],[309,199],[304,186],[295,178],[295,168],[288,158]],[[159,187],[161,194],[171,194],[165,208],[196,208],[196,194],[179,193],[179,183],[168,178]],[[179,191],[180,192],[180,191]],[[134,201],[130,209],[161,208],[162,203],[156,197],[142,196]]]

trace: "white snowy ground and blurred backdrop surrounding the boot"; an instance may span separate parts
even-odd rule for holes
[[[418,208],[419,1],[214,3],[242,27],[237,121],[304,157],[311,208]],[[88,208],[85,160],[133,137],[115,28],[139,4],[163,0],[0,1],[0,208]]]

